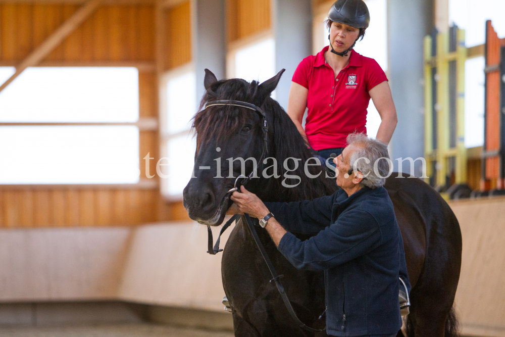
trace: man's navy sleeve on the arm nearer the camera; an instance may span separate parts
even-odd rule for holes
[[[363,256],[381,242],[375,218],[366,211],[351,210],[308,240],[284,234],[277,249],[298,269],[325,270]]]

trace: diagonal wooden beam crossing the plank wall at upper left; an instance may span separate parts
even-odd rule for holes
[[[86,18],[94,12],[102,0],[88,0],[77,10],[67,21],[65,21],[56,31],[45,39],[30,55],[26,57],[17,67],[16,72],[4,84],[0,85],[0,92],[4,90],[16,77],[26,68],[36,66],[49,53],[51,53],[70,33],[72,33]]]

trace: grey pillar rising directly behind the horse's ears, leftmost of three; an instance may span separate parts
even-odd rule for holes
[[[196,102],[205,92],[204,69],[217,79],[225,78],[225,0],[192,0],[193,62],[196,73]]]

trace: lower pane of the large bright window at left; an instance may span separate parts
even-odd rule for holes
[[[0,126],[0,184],[138,182],[135,126]]]

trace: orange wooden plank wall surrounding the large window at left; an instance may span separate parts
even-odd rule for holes
[[[20,62],[77,8],[68,4],[0,4],[0,62]],[[139,71],[139,114],[158,117],[154,15],[152,4],[100,7],[44,61],[56,65],[69,61],[87,62],[87,65],[152,63],[152,70]],[[170,41],[165,44],[169,45]],[[150,174],[155,174],[153,162],[159,159],[158,132],[141,131],[139,139],[140,163],[149,152],[155,158],[151,160]],[[141,177],[145,177],[144,165],[140,165],[140,170]],[[170,213],[171,208],[161,198],[157,184],[147,188],[0,185],[0,227],[134,225],[170,220]]]

